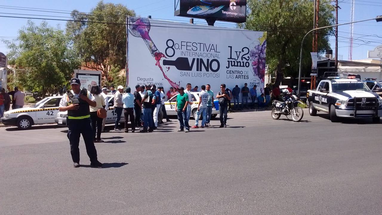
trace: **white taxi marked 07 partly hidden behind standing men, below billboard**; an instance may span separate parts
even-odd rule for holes
[[[191,105],[191,116],[196,119],[196,111],[197,111],[197,106],[199,104],[199,92],[190,92],[191,93],[191,99],[193,101],[193,104]],[[172,98],[168,99],[167,102],[165,102],[165,107],[166,107],[166,113],[167,115],[178,115],[176,112],[176,96],[173,96]],[[214,100],[215,107],[212,108],[212,114],[211,114],[211,119],[214,119],[217,114],[219,114],[219,100]],[[201,116],[202,117],[202,116]]]

